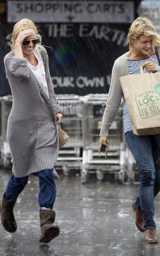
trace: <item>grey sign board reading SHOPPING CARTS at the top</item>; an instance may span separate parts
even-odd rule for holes
[[[134,3],[132,1],[8,1],[8,22],[18,22],[23,18],[34,22],[130,24],[134,20]]]

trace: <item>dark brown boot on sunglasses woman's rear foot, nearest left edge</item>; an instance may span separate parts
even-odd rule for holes
[[[16,200],[13,202],[6,201],[5,194],[3,195],[2,201],[0,202],[0,213],[2,225],[6,231],[13,233],[17,229],[17,223],[14,219],[13,208]]]

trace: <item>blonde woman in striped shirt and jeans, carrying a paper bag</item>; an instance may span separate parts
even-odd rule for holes
[[[160,71],[160,35],[155,32],[152,22],[146,18],[133,21],[128,33],[129,51],[116,59],[106,109],[102,118],[99,152],[106,144],[108,130],[114,121],[123,96],[120,77],[140,74],[140,67],[146,72]],[[136,226],[145,234],[147,243],[158,243],[154,221],[154,197],[160,190],[160,134],[133,134],[130,113],[124,100],[123,124],[126,142],[139,170],[139,195],[133,202],[136,212]]]

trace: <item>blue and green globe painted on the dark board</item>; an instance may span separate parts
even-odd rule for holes
[[[61,66],[67,66],[75,60],[75,51],[69,43],[61,44],[55,48],[53,56],[56,63]]]

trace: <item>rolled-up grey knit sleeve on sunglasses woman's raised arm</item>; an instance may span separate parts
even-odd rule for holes
[[[10,74],[14,75],[19,82],[29,78],[29,69],[27,59],[17,58],[15,56],[5,56],[4,63]]]

